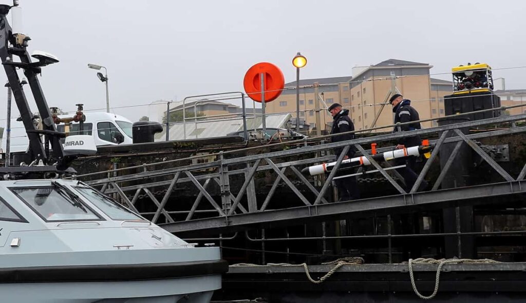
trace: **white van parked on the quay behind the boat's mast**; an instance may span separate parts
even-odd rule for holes
[[[95,145],[102,146],[133,143],[133,139],[131,138],[131,126],[133,123],[125,117],[108,112],[87,112],[84,114],[86,116],[83,128],[84,134],[93,136]],[[73,116],[73,114],[71,116]],[[56,128],[57,131],[64,132],[65,124],[60,123]],[[69,134],[80,134],[78,122],[69,123]],[[4,140],[2,140],[2,150],[4,152],[6,150],[6,138],[7,134],[4,130]],[[64,140],[62,141],[64,142]],[[11,152],[26,152],[28,145],[29,140],[27,139],[24,124],[19,121],[12,121]]]

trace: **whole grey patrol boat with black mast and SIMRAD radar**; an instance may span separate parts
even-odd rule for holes
[[[0,169],[0,300],[209,302],[228,270],[218,247],[188,244],[92,187],[64,179],[75,173],[69,163],[96,147],[82,127],[63,147],[37,78],[58,59],[36,52],[32,62],[29,37],[7,22],[11,8],[0,5],[0,57],[29,139],[29,164]],[[17,69],[31,87],[42,129]]]

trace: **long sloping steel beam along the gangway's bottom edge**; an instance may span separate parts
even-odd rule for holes
[[[524,181],[512,181],[232,215],[228,217],[228,222],[225,222],[224,217],[215,217],[161,224],[160,226],[171,233],[195,231],[224,233],[279,224],[297,225],[305,222],[338,220],[339,218],[353,215],[384,215],[397,212],[411,212],[420,208],[487,204],[495,201],[496,197],[513,197],[524,193],[526,193]]]

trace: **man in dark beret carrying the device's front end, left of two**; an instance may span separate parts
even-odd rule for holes
[[[349,119],[349,110],[348,109],[342,109],[341,105],[338,103],[333,103],[329,107],[329,112],[332,116],[332,129],[330,131],[331,134],[336,133],[343,133],[343,132],[349,132],[355,130],[354,124],[352,124],[351,119]],[[341,134],[341,135],[335,135],[331,137],[332,142],[340,142],[340,141],[347,141],[355,139],[355,134],[348,133],[348,134]],[[336,156],[340,156],[341,152],[343,151],[343,147],[336,148],[335,154]],[[352,158],[356,153],[356,148],[351,145],[349,148],[349,151],[344,156],[343,160]],[[352,174],[353,170],[346,170],[345,174]],[[360,192],[358,190],[358,182],[356,181],[356,176],[350,176],[342,179],[335,180],[336,187],[338,188],[338,195],[339,200],[338,201],[349,201],[349,200],[356,200],[360,198]]]

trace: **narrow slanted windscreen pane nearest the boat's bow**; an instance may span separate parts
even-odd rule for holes
[[[75,187],[75,189],[86,197],[89,202],[100,208],[108,217],[112,218],[112,220],[144,220],[144,218],[129,211],[97,190],[90,187]]]

